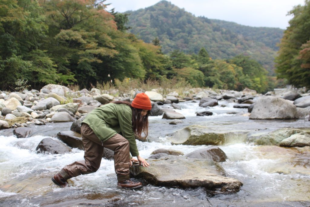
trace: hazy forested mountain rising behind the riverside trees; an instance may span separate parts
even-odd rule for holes
[[[195,17],[167,1],[126,13],[130,13],[129,31],[146,43],[159,38],[163,53],[179,49],[197,54],[204,47],[212,59],[229,59],[243,54],[254,58],[270,75],[274,75],[273,60],[276,43],[283,35],[281,29],[255,28]]]

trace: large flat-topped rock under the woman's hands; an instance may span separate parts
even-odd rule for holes
[[[156,186],[195,188],[205,187],[217,192],[237,192],[242,183],[225,176],[225,170],[216,162],[167,155],[148,159],[149,167],[133,165],[130,173]]]

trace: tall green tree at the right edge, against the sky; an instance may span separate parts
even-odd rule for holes
[[[276,57],[278,78],[287,79],[296,87],[310,87],[310,70],[307,68],[308,41],[310,40],[310,1],[305,5],[295,6],[289,12],[293,18],[290,26],[284,31],[280,50]]]

